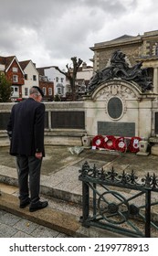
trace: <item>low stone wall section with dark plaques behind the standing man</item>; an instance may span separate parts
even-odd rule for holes
[[[69,146],[82,145],[82,137],[87,133],[85,130],[83,102],[69,101],[44,103],[46,105],[45,144]],[[6,125],[13,104],[14,103],[0,103],[0,146],[8,146],[10,144],[6,133]],[[52,128],[53,126],[56,126],[56,120],[53,120],[54,114],[52,114],[54,112],[58,113],[60,119],[58,125],[60,126],[62,124],[62,128]],[[66,118],[64,119],[65,116]],[[68,125],[70,128],[68,128]]]

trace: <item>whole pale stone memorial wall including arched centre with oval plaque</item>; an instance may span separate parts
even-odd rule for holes
[[[0,146],[10,144],[5,128],[13,104],[0,103]],[[155,127],[158,125],[155,118],[158,117],[158,95],[142,93],[132,82],[110,80],[83,101],[45,102],[45,105],[45,144],[82,145],[83,136],[92,138],[99,133],[149,140],[156,137],[155,131],[158,131]],[[58,125],[62,127],[54,125],[54,117],[59,118]]]

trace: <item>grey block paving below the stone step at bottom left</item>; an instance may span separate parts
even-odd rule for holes
[[[68,238],[68,236],[0,209],[0,238]]]

